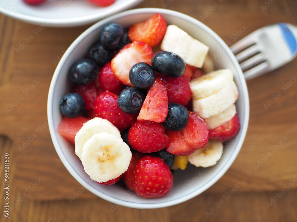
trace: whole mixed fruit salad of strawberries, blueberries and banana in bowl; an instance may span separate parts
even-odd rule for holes
[[[240,129],[238,90],[231,70],[214,70],[208,49],[160,14],[102,29],[69,69],[57,128],[92,180],[123,180],[157,198],[172,189],[174,170],[219,161]]]

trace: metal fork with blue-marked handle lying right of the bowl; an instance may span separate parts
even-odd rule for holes
[[[257,29],[230,47],[246,80],[268,73],[297,55],[297,26],[277,23]]]

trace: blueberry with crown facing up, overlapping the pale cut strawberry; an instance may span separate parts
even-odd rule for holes
[[[147,89],[156,80],[154,69],[145,62],[139,62],[129,71],[129,79],[133,86],[139,89]]]

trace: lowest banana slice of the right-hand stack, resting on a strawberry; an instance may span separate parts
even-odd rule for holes
[[[223,123],[232,119],[236,114],[236,106],[232,104],[227,110],[219,113],[218,115],[211,116],[209,118],[204,119],[208,129],[214,129],[218,126],[221,126]]]

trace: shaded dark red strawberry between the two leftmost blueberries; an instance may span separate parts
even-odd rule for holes
[[[73,91],[77,92],[83,97],[86,104],[86,110],[93,108],[94,100],[97,97],[97,89],[93,82],[85,86],[74,86]]]

